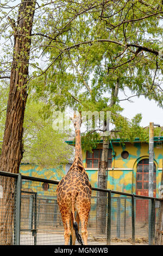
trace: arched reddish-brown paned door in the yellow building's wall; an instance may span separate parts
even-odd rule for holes
[[[142,159],[137,164],[136,194],[148,196],[149,187],[149,159]],[[156,166],[153,165],[153,196],[156,196]]]

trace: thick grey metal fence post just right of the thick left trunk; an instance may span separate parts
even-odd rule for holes
[[[18,173],[16,183],[16,220],[15,220],[15,245],[20,245],[20,221],[21,221],[21,173]]]

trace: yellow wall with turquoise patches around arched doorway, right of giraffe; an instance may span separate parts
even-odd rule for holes
[[[149,159],[148,143],[112,143],[115,157],[112,157],[111,168],[108,168],[107,188],[113,191],[136,194],[136,172],[137,164],[143,159]],[[101,145],[98,146],[99,148]],[[127,151],[128,157],[122,158],[122,152]],[[159,187],[162,173],[163,149],[157,148],[154,143],[154,164],[156,167],[156,196],[159,195]],[[83,154],[84,165],[91,185],[97,187],[98,168],[87,168],[86,153]]]

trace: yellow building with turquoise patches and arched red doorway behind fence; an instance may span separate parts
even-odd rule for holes
[[[159,186],[162,173],[162,149],[163,137],[154,137],[154,196],[159,196]],[[102,154],[102,140],[92,153],[83,150],[83,164],[92,187],[98,187],[98,165]],[[74,145],[73,141],[66,141]],[[60,180],[64,176],[71,163],[58,168],[43,168],[33,164],[21,164],[20,172],[23,175],[37,178]],[[135,193],[148,196],[148,172],[149,172],[149,145],[135,138],[133,143],[120,143],[120,139],[111,139],[108,154],[107,188],[113,191]],[[48,187],[43,187],[42,194]]]

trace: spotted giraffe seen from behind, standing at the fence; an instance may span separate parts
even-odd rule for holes
[[[64,224],[65,245],[68,245],[70,235],[72,245],[78,242],[87,245],[87,222],[91,208],[91,184],[85,172],[82,160],[82,147],[80,141],[80,127],[82,117],[74,114],[73,120],[76,131],[75,157],[68,173],[60,180],[57,187],[57,202]],[[77,211],[75,218],[74,212]],[[82,237],[78,233],[81,222]],[[71,223],[71,224],[70,224]]]

